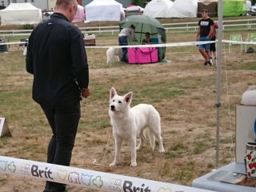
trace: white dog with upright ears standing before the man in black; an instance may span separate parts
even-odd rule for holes
[[[161,119],[154,106],[147,104],[139,104],[130,108],[132,100],[132,92],[120,96],[114,87],[110,90],[110,120],[113,126],[115,154],[114,162],[110,166],[116,166],[120,159],[121,146],[123,141],[130,142],[131,163],[130,166],[137,166],[136,150],[142,148],[142,144],[146,137],[144,130],[149,127],[150,146],[154,150],[155,137],[158,138],[159,152],[165,152],[161,137]],[[140,142],[136,149],[136,138],[140,138]]]

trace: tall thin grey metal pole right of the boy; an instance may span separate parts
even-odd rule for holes
[[[221,67],[222,67],[222,19],[223,0],[218,1],[218,43],[217,43],[217,129],[216,129],[216,166],[219,161],[219,130],[220,130],[220,106],[221,106]]]

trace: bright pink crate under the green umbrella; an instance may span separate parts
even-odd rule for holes
[[[158,62],[158,49],[156,47],[128,48],[128,62],[130,64]]]

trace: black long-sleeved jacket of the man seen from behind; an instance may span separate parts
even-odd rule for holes
[[[32,97],[42,106],[79,99],[89,84],[89,70],[78,27],[58,13],[38,25],[29,38],[26,70],[34,74]]]

